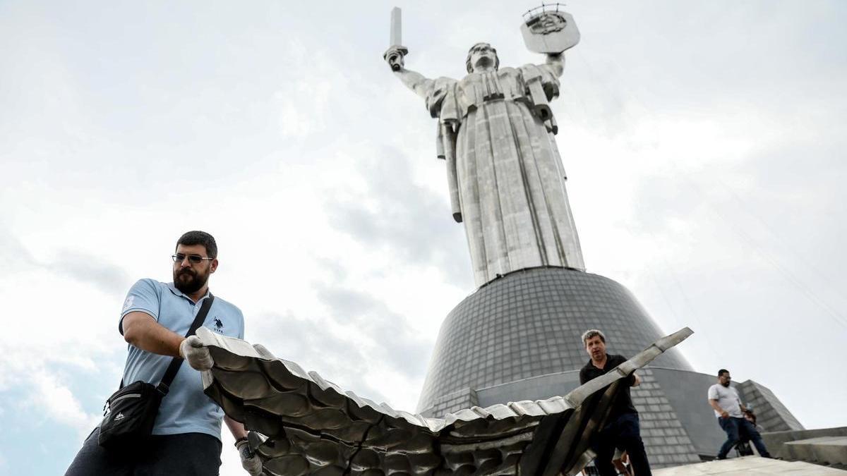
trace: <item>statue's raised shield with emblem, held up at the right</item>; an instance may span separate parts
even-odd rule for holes
[[[562,53],[579,43],[573,16],[562,11],[542,11],[521,25],[523,42],[534,53]]]

